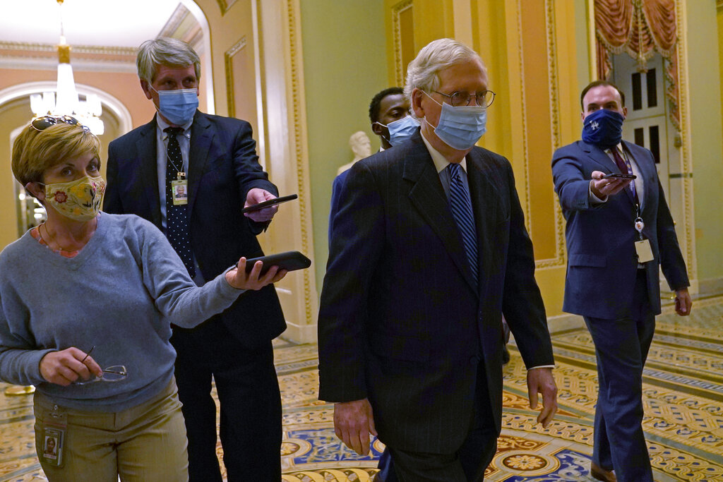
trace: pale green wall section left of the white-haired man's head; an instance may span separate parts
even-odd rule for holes
[[[339,166],[353,158],[348,139],[367,132],[369,101],[390,87],[383,0],[301,1],[314,256],[321,288],[328,258],[331,185]]]

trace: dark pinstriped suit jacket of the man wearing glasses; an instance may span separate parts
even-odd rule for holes
[[[319,314],[319,397],[368,397],[380,439],[398,449],[458,449],[475,403],[499,431],[502,311],[527,366],[553,363],[510,163],[475,147],[467,167],[479,287],[419,132],[354,164],[341,192]],[[489,390],[476,400],[480,381]]]

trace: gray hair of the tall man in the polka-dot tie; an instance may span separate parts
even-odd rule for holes
[[[196,79],[201,79],[201,60],[189,44],[172,37],[146,40],[138,48],[138,77],[149,84],[155,79],[155,66],[185,67],[193,64]]]

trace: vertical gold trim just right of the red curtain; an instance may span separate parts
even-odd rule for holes
[[[690,173],[681,179],[683,184],[683,233],[685,238],[685,264],[688,277],[693,284],[698,280],[698,262],[696,260],[696,218],[693,212],[693,161],[690,159],[690,92],[688,92],[688,15],[685,13],[686,0],[676,0],[678,41],[675,55],[678,67],[678,92],[680,95],[680,137],[683,145],[680,148],[680,171]],[[718,1],[718,5],[723,3]],[[696,286],[692,287],[694,290]]]

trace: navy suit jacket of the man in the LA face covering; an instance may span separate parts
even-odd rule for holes
[[[643,178],[643,236],[650,240],[654,261],[645,264],[650,304],[660,313],[658,267],[671,289],[688,286],[685,262],[675,235],[675,225],[663,196],[652,153],[623,141]],[[629,189],[592,205],[589,184],[592,171],[620,173],[607,154],[583,141],[560,147],[552,157],[555,191],[567,220],[568,274],[562,309],[583,316],[618,319],[630,313],[638,259],[636,203]]]

